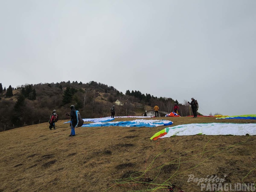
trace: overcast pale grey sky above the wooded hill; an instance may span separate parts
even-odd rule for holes
[[[256,114],[255,10],[255,0],[0,0],[0,83],[96,81],[194,97],[204,115]]]

